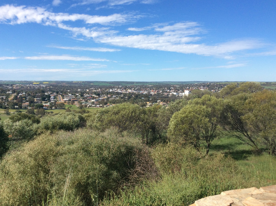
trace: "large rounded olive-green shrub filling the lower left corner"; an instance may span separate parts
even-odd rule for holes
[[[94,205],[130,179],[141,145],[118,131],[43,134],[0,164],[0,205]]]

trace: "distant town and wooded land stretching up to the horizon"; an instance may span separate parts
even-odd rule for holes
[[[198,92],[217,93],[229,83],[231,82],[2,81],[0,109],[65,109],[65,105],[76,105],[81,109],[109,107],[123,102],[139,104],[141,107],[153,104],[167,105],[177,98]],[[271,82],[261,85],[274,86]]]

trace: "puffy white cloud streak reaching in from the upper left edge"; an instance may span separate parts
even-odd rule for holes
[[[102,35],[113,35],[117,31],[112,31],[109,28],[85,28],[85,27],[71,27],[65,25],[63,22],[81,20],[85,24],[99,24],[99,25],[116,25],[123,24],[129,21],[134,21],[140,18],[134,14],[112,14],[108,16],[87,15],[87,14],[68,14],[68,13],[53,13],[46,11],[42,7],[26,7],[5,5],[0,7],[0,23],[6,24],[23,24],[23,23],[39,23],[46,26],[56,26],[61,29],[71,31],[75,36],[83,35],[86,37],[96,37]]]

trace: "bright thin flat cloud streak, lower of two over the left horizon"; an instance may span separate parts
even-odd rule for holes
[[[51,55],[43,55],[43,56],[26,56],[25,59],[29,60],[69,60],[69,61],[109,61],[107,59],[97,59],[97,58],[90,58],[86,56],[51,56]]]

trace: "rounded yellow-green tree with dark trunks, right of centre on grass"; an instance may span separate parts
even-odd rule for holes
[[[192,144],[197,149],[201,143],[206,143],[208,154],[211,142],[220,134],[222,118],[222,99],[204,95],[189,101],[189,105],[172,116],[168,137],[181,144]]]

